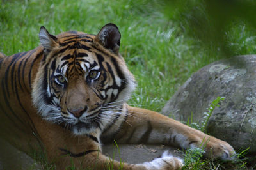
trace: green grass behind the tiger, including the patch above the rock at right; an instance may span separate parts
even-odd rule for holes
[[[120,52],[138,81],[129,103],[161,111],[193,72],[221,58],[256,53],[255,27],[243,18],[230,19],[221,32],[221,40],[229,51],[225,53],[218,43],[193,36],[196,29],[197,34],[208,37],[204,27],[191,25],[191,20],[199,24],[203,20],[205,27],[211,26],[211,16],[204,15],[204,2],[177,2],[2,0],[0,52],[11,55],[34,49],[39,45],[40,26],[54,35],[68,30],[97,34],[104,24],[113,22],[122,34]]]

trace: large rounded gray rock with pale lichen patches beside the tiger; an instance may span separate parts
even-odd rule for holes
[[[212,100],[225,97],[207,124],[210,135],[236,150],[256,153],[256,56],[217,61],[194,73],[173,95],[162,112],[176,120],[199,123]]]

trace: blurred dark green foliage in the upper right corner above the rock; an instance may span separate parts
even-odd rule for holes
[[[221,58],[239,52],[255,53],[256,1],[253,0],[163,0],[164,13],[209,52]],[[244,36],[246,34],[246,36]],[[246,37],[246,38],[244,38]],[[234,40],[237,43],[232,43]],[[237,49],[238,48],[238,49]]]

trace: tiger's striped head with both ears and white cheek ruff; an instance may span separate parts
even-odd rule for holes
[[[57,36],[41,27],[39,38],[44,58],[32,98],[42,118],[77,135],[111,122],[115,115],[108,110],[118,109],[136,86],[119,54],[118,27],[106,24],[97,35],[67,31]]]

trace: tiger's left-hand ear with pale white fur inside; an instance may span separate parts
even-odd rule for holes
[[[54,35],[51,35],[47,29],[45,29],[44,26],[42,26],[40,28],[40,32],[39,32],[39,39],[40,39],[40,43],[43,45],[44,47],[44,52],[45,55],[48,54],[49,52],[51,52],[53,47],[57,46],[57,38]]]

